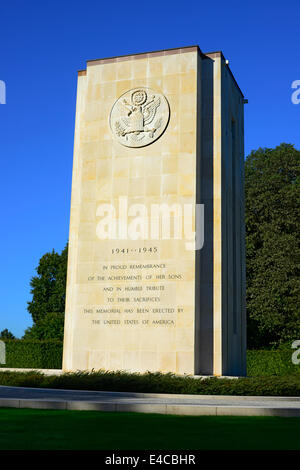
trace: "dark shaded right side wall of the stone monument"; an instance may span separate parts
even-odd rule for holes
[[[221,64],[222,375],[245,375],[244,97]]]

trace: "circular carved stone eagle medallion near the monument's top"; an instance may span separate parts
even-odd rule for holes
[[[165,131],[170,117],[164,95],[150,88],[124,93],[112,107],[109,122],[114,137],[126,147],[152,144]]]

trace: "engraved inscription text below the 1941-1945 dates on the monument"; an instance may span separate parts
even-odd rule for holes
[[[184,282],[184,275],[176,272],[174,264],[109,262],[98,269],[105,274],[95,272],[85,282],[98,286],[98,292],[103,293],[102,305],[90,304],[82,309],[94,326],[174,327],[185,311],[177,304],[174,290],[174,281]]]

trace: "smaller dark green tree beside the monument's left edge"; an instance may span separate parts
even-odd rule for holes
[[[30,281],[32,300],[27,307],[34,323],[44,319],[48,313],[65,311],[67,259],[68,245],[61,254],[53,250],[40,259],[37,276]]]

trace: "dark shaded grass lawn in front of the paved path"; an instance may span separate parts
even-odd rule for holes
[[[0,409],[0,449],[300,449],[300,419]]]

